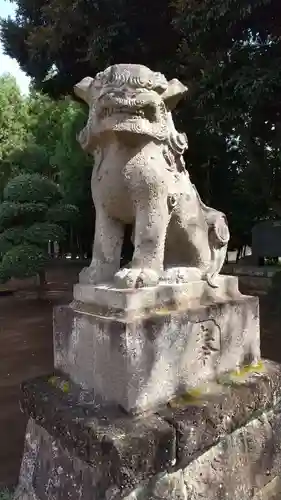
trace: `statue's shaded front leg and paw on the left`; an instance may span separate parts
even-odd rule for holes
[[[80,283],[112,283],[120,269],[124,226],[112,219],[102,208],[96,209],[95,239],[92,262],[79,275]]]

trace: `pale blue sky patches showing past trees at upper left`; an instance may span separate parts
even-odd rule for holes
[[[15,14],[15,4],[9,0],[0,0],[0,17],[13,17]],[[23,94],[28,93],[29,78],[21,71],[17,61],[3,54],[3,48],[0,43],[0,75],[3,73],[11,73],[17,80],[18,85]]]

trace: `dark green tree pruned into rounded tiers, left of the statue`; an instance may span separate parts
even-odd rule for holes
[[[10,180],[0,205],[0,281],[38,274],[44,285],[48,242],[63,240],[75,214],[53,181],[38,174]]]

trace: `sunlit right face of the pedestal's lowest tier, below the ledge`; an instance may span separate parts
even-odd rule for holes
[[[280,424],[280,413],[265,412],[186,468],[159,474],[126,500],[277,500]]]

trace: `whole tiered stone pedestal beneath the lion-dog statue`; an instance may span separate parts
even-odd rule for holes
[[[76,285],[55,372],[23,384],[14,500],[276,500],[281,368],[237,284]]]

